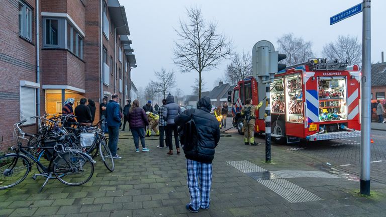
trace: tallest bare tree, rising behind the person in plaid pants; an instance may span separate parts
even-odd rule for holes
[[[187,21],[179,20],[175,30],[178,41],[174,41],[174,63],[182,72],[199,73],[198,95],[201,97],[204,70],[216,68],[220,61],[232,52],[232,43],[223,33],[218,33],[217,23],[204,19],[200,8],[186,9]]]

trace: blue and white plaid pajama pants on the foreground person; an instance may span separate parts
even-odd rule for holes
[[[212,164],[186,159],[187,187],[193,209],[209,208],[212,184]],[[200,182],[199,182],[200,181]]]

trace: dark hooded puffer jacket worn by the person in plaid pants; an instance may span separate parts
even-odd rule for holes
[[[194,121],[197,127],[198,138],[191,138],[197,145],[189,151],[185,151],[185,157],[190,160],[202,163],[212,163],[215,157],[215,148],[220,141],[220,128],[217,119],[210,114],[212,104],[207,96],[202,97],[197,103],[197,110],[185,110],[176,119],[179,126],[189,121],[191,114],[194,114]]]

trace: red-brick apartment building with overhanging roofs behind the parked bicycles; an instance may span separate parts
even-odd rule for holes
[[[38,25],[37,25],[38,22]],[[38,27],[38,28],[36,28]],[[0,8],[0,141],[13,124],[61,112],[66,98],[130,98],[136,67],[125,8],[118,0],[6,0]],[[38,40],[37,40],[38,39]],[[1,147],[0,147],[1,149]]]

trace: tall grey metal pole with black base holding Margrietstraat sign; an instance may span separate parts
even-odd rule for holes
[[[362,30],[362,130],[360,146],[360,193],[370,195],[370,93],[371,93],[371,37],[370,0],[363,0]]]

